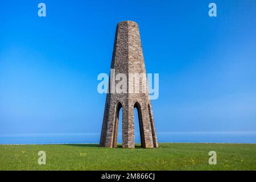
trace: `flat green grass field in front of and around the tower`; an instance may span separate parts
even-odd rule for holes
[[[208,163],[209,151],[217,164]],[[46,152],[46,165],[38,152]],[[159,143],[159,148],[97,144],[0,145],[0,170],[256,170],[256,144]]]

